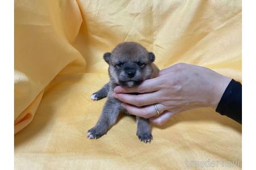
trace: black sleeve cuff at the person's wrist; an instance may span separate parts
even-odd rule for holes
[[[234,79],[229,82],[216,112],[242,124],[242,84]]]

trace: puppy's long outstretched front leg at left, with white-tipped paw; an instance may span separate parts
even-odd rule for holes
[[[96,125],[87,133],[90,139],[99,138],[106,134],[108,129],[117,121],[119,114],[120,102],[114,98],[109,98],[104,105],[103,111]]]

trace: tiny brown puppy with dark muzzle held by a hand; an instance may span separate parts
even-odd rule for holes
[[[148,52],[142,45],[134,42],[119,44],[113,51],[103,56],[109,64],[108,73],[110,81],[99,91],[92,94],[92,100],[100,100],[108,97],[103,111],[96,125],[87,133],[90,139],[99,138],[106,134],[108,129],[116,122],[119,112],[130,115],[120,104],[121,102],[112,97],[115,87],[135,87],[146,79],[158,76],[159,69],[153,61],[155,55]],[[137,117],[137,136],[145,143],[152,139],[150,124],[147,119]]]

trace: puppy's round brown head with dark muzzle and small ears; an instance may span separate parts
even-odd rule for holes
[[[134,87],[151,78],[155,55],[138,43],[124,42],[111,53],[105,53],[104,60],[109,64],[109,75],[115,83]]]

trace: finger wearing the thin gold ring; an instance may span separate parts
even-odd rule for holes
[[[160,114],[165,109],[167,109],[167,107],[162,104],[158,103],[156,105],[157,105],[157,108],[158,108]],[[157,111],[156,111],[156,108],[154,105],[150,105],[150,106],[146,106],[146,107],[136,107],[136,106],[129,105],[126,103],[122,103],[121,106],[124,107],[130,114],[136,115],[139,117],[143,117],[146,119],[157,115]]]

